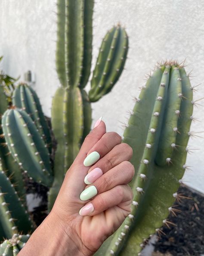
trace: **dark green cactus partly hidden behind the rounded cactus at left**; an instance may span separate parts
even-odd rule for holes
[[[51,135],[37,93],[26,83],[20,83],[13,92],[12,102],[14,106],[25,110],[30,115],[51,153]]]

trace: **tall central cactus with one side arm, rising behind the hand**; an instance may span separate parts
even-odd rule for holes
[[[102,42],[93,72],[89,96],[83,88],[90,77],[92,60],[93,0],[57,1],[56,68],[60,83],[53,98],[52,126],[58,146],[54,182],[49,191],[49,209],[59,192],[64,175],[90,132],[91,105],[110,92],[119,79],[127,58],[127,33],[120,25]]]

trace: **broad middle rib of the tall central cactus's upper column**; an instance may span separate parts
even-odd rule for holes
[[[65,67],[68,85],[80,83],[83,64],[83,0],[65,0]]]

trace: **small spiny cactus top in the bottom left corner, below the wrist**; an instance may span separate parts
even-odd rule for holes
[[[0,255],[2,256],[17,256],[20,250],[25,246],[30,234],[19,235],[14,234],[11,239],[5,240],[0,245]]]

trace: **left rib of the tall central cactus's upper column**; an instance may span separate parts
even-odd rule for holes
[[[57,0],[56,70],[60,83],[65,87],[65,0]]]

